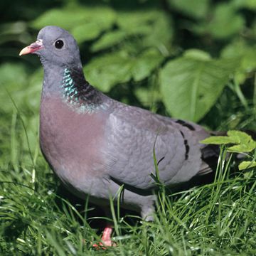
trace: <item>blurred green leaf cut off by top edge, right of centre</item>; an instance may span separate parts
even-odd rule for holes
[[[204,18],[208,13],[209,0],[169,0],[171,7],[192,18]]]

